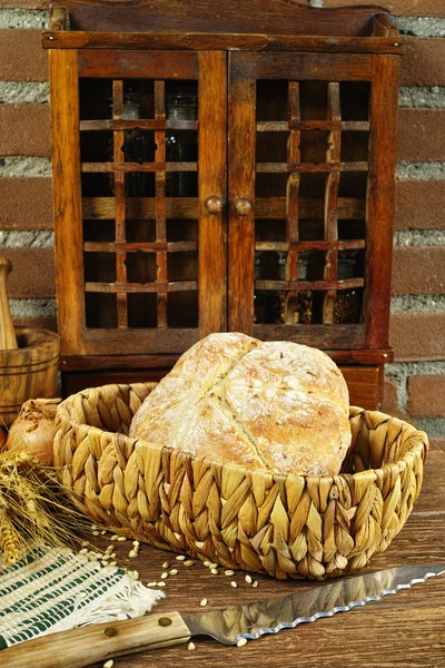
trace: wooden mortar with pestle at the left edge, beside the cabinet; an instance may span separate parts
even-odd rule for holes
[[[14,327],[7,279],[11,265],[0,257],[0,426],[10,426],[28,399],[58,395],[60,338],[55,332]]]

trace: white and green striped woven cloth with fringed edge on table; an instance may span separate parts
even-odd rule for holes
[[[68,549],[36,548],[8,568],[0,559],[0,650],[56,631],[141,617],[164,597],[125,570]]]

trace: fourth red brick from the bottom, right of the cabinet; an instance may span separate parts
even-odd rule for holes
[[[445,229],[445,180],[396,181],[396,229]]]

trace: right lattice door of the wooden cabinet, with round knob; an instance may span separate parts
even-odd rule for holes
[[[229,330],[387,346],[396,58],[229,59]]]

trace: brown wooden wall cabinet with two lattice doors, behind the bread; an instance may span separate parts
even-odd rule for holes
[[[57,3],[43,32],[66,390],[229,330],[326,350],[377,407],[400,38],[369,7],[182,6]]]

